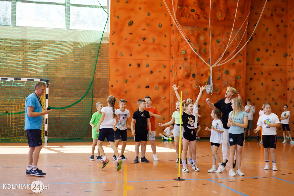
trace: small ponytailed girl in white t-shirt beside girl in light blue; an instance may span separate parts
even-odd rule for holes
[[[225,167],[222,165],[218,154],[218,147],[223,141],[223,120],[220,119],[221,112],[219,109],[214,109],[211,112],[212,121],[211,129],[208,127],[205,128],[207,131],[211,131],[210,142],[211,142],[211,152],[212,152],[212,168],[208,170],[209,173],[216,172],[220,173],[225,170]],[[218,169],[216,170],[216,162],[218,162]]]

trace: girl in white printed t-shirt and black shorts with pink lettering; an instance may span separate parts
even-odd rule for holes
[[[272,155],[273,170],[278,170],[277,168],[277,154],[276,154],[276,144],[277,144],[277,127],[280,126],[280,121],[277,115],[271,113],[272,106],[270,103],[265,103],[264,105],[265,114],[258,118],[257,127],[254,133],[257,133],[262,127],[262,140],[263,140],[263,151],[265,160],[265,170],[269,170],[269,151]]]

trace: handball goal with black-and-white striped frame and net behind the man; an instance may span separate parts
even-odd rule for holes
[[[26,141],[24,130],[24,111],[26,98],[35,91],[37,81],[47,84],[40,97],[42,105],[48,106],[48,79],[0,78],[0,140]],[[42,140],[47,142],[48,114],[43,116]]]

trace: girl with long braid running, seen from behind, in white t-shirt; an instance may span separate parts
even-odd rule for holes
[[[107,98],[107,107],[101,109],[102,116],[97,125],[98,135],[98,148],[103,158],[102,169],[106,166],[109,160],[106,158],[102,142],[107,138],[107,141],[110,143],[111,148],[113,149],[114,155],[116,155],[116,170],[119,171],[121,169],[121,163],[123,162],[118,155],[117,147],[114,141],[114,127],[118,123],[116,109],[114,108],[114,104],[116,102],[116,98],[111,95]]]

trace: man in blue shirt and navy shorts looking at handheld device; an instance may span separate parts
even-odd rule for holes
[[[50,110],[46,108],[43,111],[40,96],[44,94],[45,90],[45,82],[36,82],[35,92],[26,98],[24,129],[26,130],[26,136],[30,147],[28,154],[28,166],[26,169],[27,175],[46,175],[46,173],[38,169],[38,159],[43,146],[41,138],[43,115],[52,111],[50,108]]]

